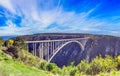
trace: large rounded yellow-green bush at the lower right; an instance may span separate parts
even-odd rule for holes
[[[98,56],[92,60],[90,65],[93,74],[117,70],[117,62],[115,62],[115,59],[111,56],[107,56],[106,58],[101,58],[101,56]]]

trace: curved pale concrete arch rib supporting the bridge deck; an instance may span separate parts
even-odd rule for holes
[[[68,41],[68,42],[66,42],[65,44],[61,45],[61,47],[59,47],[59,48],[56,49],[55,53],[52,55],[52,57],[50,57],[50,59],[48,60],[48,62],[50,62],[50,61],[54,58],[54,56],[55,56],[63,47],[65,47],[66,45],[68,45],[68,44],[70,44],[70,43],[73,43],[73,42],[79,44],[79,46],[81,47],[82,51],[84,51],[84,46],[82,45],[81,42],[79,42],[79,41],[77,41],[77,40]]]

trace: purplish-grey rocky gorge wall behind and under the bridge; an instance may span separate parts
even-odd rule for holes
[[[82,51],[77,43],[70,43],[62,48],[51,62],[58,66],[69,65],[75,62],[77,65],[81,60],[95,58],[98,55],[105,57],[106,55],[120,55],[120,37],[106,35],[90,35],[90,34],[36,34],[22,36],[25,40],[46,40],[46,39],[69,39],[90,37],[86,42],[85,50]]]

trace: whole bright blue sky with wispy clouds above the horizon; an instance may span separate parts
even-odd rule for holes
[[[0,36],[64,32],[120,36],[120,0],[0,0]]]

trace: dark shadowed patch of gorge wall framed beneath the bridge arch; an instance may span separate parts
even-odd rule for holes
[[[52,63],[57,64],[59,67],[70,65],[74,62],[74,65],[80,63],[85,58],[85,52],[81,49],[78,43],[72,42],[63,47],[51,60]]]

